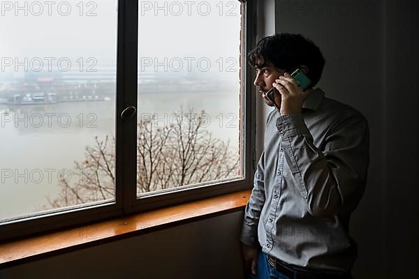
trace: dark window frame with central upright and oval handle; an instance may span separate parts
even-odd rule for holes
[[[137,198],[137,114],[122,120],[121,112],[128,106],[137,107],[138,98],[138,1],[117,2],[117,83],[115,110],[115,202],[62,209],[53,213],[0,223],[0,241],[96,222],[106,218],[138,213],[162,206],[191,202],[249,189],[253,185],[256,167],[256,93],[253,71],[247,63],[249,47],[256,45],[256,0],[236,0],[242,3],[240,75],[242,109],[240,129],[244,178],[237,181],[214,182],[193,188],[170,189],[169,193],[150,194]],[[135,23],[135,24],[133,24]],[[123,142],[124,144],[118,144]],[[135,152],[132,152],[132,151]]]

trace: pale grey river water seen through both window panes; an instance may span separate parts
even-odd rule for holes
[[[184,112],[189,112],[189,107],[195,112],[205,110],[210,120],[207,130],[214,137],[230,140],[230,146],[238,149],[238,93],[144,93],[138,100],[138,118],[157,113],[160,123],[170,123],[172,112],[181,107]],[[95,136],[104,139],[105,135],[115,134],[114,99],[20,107],[0,105],[0,115],[0,219],[48,208],[47,197],[54,199],[61,190],[57,174],[66,174],[63,169],[71,170],[75,161],[83,160],[85,147],[95,144]],[[15,122],[17,118],[24,120]]]

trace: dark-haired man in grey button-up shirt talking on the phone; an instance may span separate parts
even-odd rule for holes
[[[325,60],[311,40],[278,33],[249,53],[265,103],[274,87],[264,150],[240,240],[244,266],[258,278],[351,278],[357,255],[348,234],[369,163],[364,116],[313,89]],[[311,80],[302,91],[291,73]]]

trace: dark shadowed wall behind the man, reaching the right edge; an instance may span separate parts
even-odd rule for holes
[[[314,40],[318,84],[369,121],[367,189],[351,220],[355,278],[418,276],[418,4],[275,1],[276,32]],[[415,277],[415,278],[416,278]]]

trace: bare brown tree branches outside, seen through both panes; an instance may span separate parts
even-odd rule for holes
[[[183,110],[173,123],[159,125],[155,116],[138,123],[137,192],[148,193],[240,175],[240,156],[229,142],[205,129],[205,112]],[[115,196],[115,138],[96,137],[82,162],[75,162],[68,181],[61,177],[61,192],[47,198],[52,208],[97,202]]]

